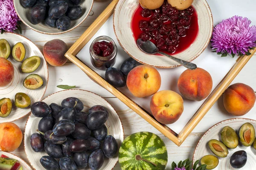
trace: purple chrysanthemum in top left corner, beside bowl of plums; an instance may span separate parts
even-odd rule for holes
[[[13,32],[17,29],[17,13],[12,0],[0,0],[0,30]]]

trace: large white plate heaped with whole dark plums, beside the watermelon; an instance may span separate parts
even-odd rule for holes
[[[79,89],[33,103],[24,130],[25,153],[35,170],[112,170],[123,140],[111,104]]]

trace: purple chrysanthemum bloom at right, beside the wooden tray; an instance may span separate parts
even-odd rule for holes
[[[222,20],[212,33],[212,49],[222,54],[246,54],[256,47],[256,26],[246,17],[233,16]]]

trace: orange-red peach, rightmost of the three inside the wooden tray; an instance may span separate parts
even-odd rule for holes
[[[212,91],[212,77],[202,68],[185,70],[178,79],[178,88],[186,99],[201,101]]]

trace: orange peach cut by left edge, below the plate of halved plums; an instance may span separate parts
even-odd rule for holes
[[[17,149],[23,139],[20,127],[12,122],[0,123],[0,149],[12,152]]]

